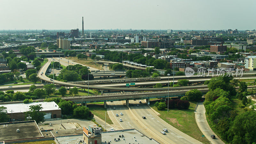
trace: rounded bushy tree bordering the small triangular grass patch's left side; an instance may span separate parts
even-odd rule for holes
[[[74,118],[82,118],[82,119],[87,119],[91,120],[93,118],[93,114],[91,111],[89,111],[89,108],[85,106],[81,107],[76,107],[73,112]]]

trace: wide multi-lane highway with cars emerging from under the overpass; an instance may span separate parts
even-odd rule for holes
[[[153,136],[152,138],[161,141],[160,143],[201,143],[166,123],[143,100],[141,101],[142,103],[139,103],[138,100],[130,100],[130,109],[125,107],[125,101],[108,102],[108,115],[117,128],[140,128],[142,133]],[[121,112],[124,114],[123,116],[120,116]],[[146,116],[146,119],[143,119],[142,116]],[[123,122],[119,121],[120,118]],[[168,129],[165,135],[160,133],[164,128]]]

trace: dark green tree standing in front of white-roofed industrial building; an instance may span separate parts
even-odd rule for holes
[[[29,106],[29,111],[27,116],[32,117],[32,120],[35,120],[37,124],[45,122],[44,115],[45,113],[41,110],[43,109],[42,104]]]

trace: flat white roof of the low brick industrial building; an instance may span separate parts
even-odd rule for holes
[[[7,108],[7,113],[20,113],[20,112],[27,112],[29,111],[29,106],[32,105],[39,105],[42,104],[41,107],[43,109],[41,111],[46,111],[46,110],[59,110],[59,106],[54,102],[32,102],[32,103],[16,103],[16,104],[5,104],[5,105],[0,105],[4,106]]]

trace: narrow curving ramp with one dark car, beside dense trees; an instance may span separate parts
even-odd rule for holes
[[[196,117],[196,124],[198,125],[199,129],[211,143],[225,144],[210,128],[206,120],[205,108],[204,108],[203,102],[198,102],[198,107],[196,108],[196,111],[195,111],[195,117]],[[211,138],[212,134],[216,136],[215,139]]]

